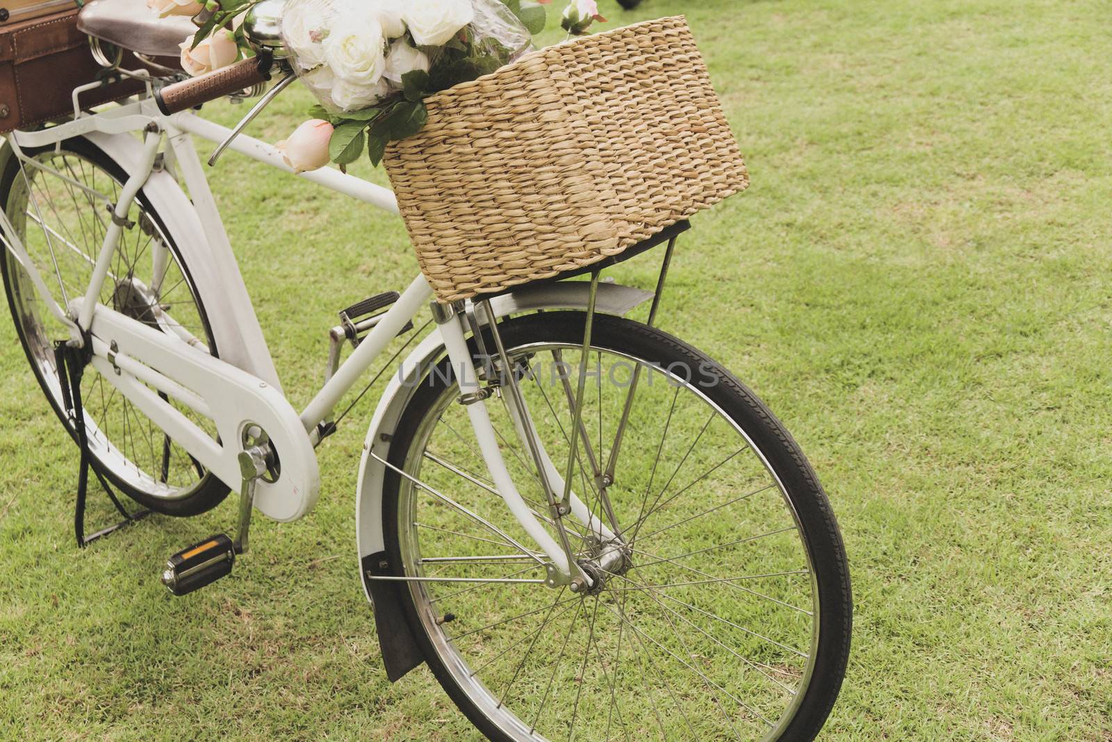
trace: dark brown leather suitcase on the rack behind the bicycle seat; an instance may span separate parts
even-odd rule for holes
[[[101,72],[89,50],[88,37],[77,30],[77,14],[73,7],[33,20],[0,24],[0,132],[72,115],[73,88],[92,82]],[[136,69],[141,65],[131,53],[125,53],[121,66]],[[81,107],[99,106],[142,89],[140,80],[109,82],[81,93]]]

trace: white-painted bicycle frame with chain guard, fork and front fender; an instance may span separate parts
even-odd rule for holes
[[[77,95],[78,91],[75,98]],[[142,136],[141,144],[136,140],[136,133]],[[68,307],[59,306],[47,290],[7,215],[0,214],[0,227],[8,249],[30,274],[49,309],[70,329],[70,343],[82,345],[91,340],[91,363],[105,380],[234,491],[241,484],[238,455],[245,447],[246,432],[254,425],[266,432],[280,456],[281,475],[276,482],[257,483],[254,504],[264,515],[288,522],[302,517],[317,499],[319,472],[315,447],[320,442],[321,423],[329,418],[341,397],[406,324],[429,305],[434,295],[424,276],[418,275],[306,408],[296,412],[281,392],[270,352],[191,140],[192,136],[197,136],[219,142],[229,133],[230,129],[192,112],[163,116],[153,99],[147,97],[101,112],[79,115],[72,121],[39,131],[13,131],[8,135],[13,156],[24,164],[30,160],[22,154],[23,149],[54,146],[71,137],[85,136],[128,172],[119,201],[113,205],[115,218],[97,256],[90,285],[85,296],[71,299]],[[274,147],[250,137],[236,137],[229,149],[292,172]],[[170,175],[172,171],[177,171],[183,180],[188,198]],[[66,177],[59,172],[53,175]],[[387,212],[398,214],[397,201],[390,190],[360,178],[331,168],[298,174],[298,177]],[[73,180],[70,182],[81,187]],[[158,332],[97,300],[128,211],[140,190],[152,204],[161,207],[158,210],[166,221],[167,231],[181,241],[186,238],[190,243],[179,245],[179,249],[187,257],[195,288],[208,308],[219,358],[209,355],[203,347],[195,347],[197,338],[189,337],[183,329]],[[168,255],[165,246],[153,253],[157,280]],[[526,288],[497,297],[492,300],[490,308],[495,317],[540,308],[585,308],[587,289],[588,286],[583,283]],[[649,291],[602,284],[598,286],[596,309],[625,314],[652,296]],[[427,368],[427,364],[441,358],[446,349],[459,377],[460,390],[477,390],[480,386],[467,346],[463,315],[457,315],[455,310],[439,314],[441,317],[435,332],[403,362],[400,373],[395,374],[387,385],[370,424],[358,487],[360,557],[384,548],[381,483],[387,468],[394,468],[387,463],[389,434],[411,393],[403,379],[417,368]],[[173,326],[172,320],[169,324]],[[165,402],[158,393],[211,419],[221,443]],[[514,407],[509,408],[513,414]],[[537,521],[517,491],[503,459],[485,402],[470,404],[467,409],[492,482],[539,550],[527,548],[510,540],[512,543],[538,562],[547,563],[549,584],[555,584],[554,581],[566,582],[576,575],[589,581],[578,565],[569,563],[565,548]],[[515,415],[514,422],[518,435],[527,435],[520,417]],[[563,492],[564,478],[543,448],[540,458],[552,488]],[[401,475],[408,477],[404,473]],[[453,504],[463,508],[458,503]],[[592,524],[599,540],[614,538],[614,533],[597,516],[588,513],[575,493],[572,493],[570,506],[573,515],[582,523]]]

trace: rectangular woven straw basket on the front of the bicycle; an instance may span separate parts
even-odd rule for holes
[[[530,52],[426,105],[384,159],[443,301],[583,268],[748,185],[683,17]]]

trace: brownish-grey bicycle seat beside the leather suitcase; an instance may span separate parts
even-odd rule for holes
[[[78,13],[77,28],[140,55],[173,58],[181,55],[186,37],[197,30],[185,16],[159,18],[147,0],[92,0]]]

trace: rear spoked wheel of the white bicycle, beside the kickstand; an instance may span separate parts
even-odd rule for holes
[[[58,149],[24,149],[23,154],[31,164],[20,168],[13,156],[0,175],[0,205],[54,300],[66,307],[83,296],[89,285],[111,220],[109,208],[119,198],[127,175],[103,151],[80,138],[69,139]],[[128,220],[132,226],[122,233],[100,301],[217,355],[189,267],[142,192]],[[62,412],[53,357],[53,342],[66,339],[68,333],[38,296],[27,270],[6,249],[0,249],[0,274],[31,370],[76,439],[77,431]],[[196,515],[227,496],[222,482],[116,392],[92,366],[85,370],[81,395],[92,466],[129,497],[160,513]],[[215,426],[188,408],[176,406],[215,435]]]

